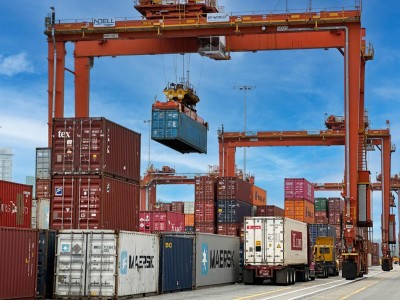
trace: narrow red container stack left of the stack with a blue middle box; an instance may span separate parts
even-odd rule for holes
[[[196,232],[216,233],[216,178],[196,177],[194,186]]]

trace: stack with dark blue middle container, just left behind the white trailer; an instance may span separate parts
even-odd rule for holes
[[[240,236],[243,220],[252,216],[251,184],[237,177],[217,180],[218,234]]]

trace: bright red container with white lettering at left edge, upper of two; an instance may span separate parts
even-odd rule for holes
[[[0,226],[31,228],[31,217],[32,186],[0,180]]]

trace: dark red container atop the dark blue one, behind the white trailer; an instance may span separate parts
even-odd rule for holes
[[[238,177],[220,177],[217,181],[218,200],[239,200],[250,203],[251,184]]]

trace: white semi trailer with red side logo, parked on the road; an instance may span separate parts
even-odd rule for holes
[[[313,248],[306,223],[285,217],[245,217],[245,284],[276,284],[315,279]]]

